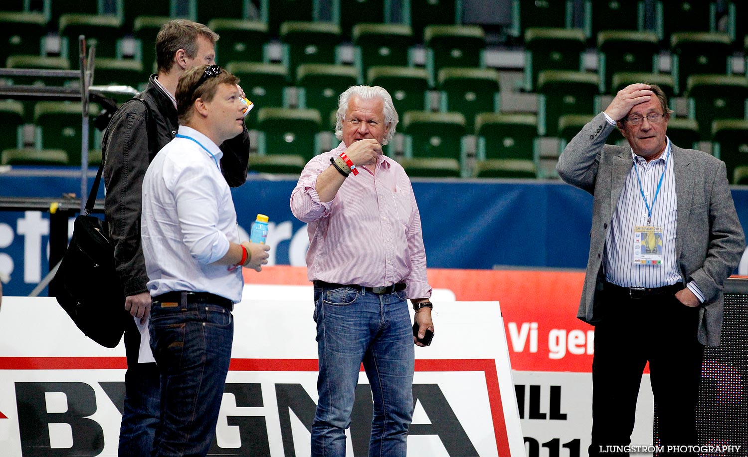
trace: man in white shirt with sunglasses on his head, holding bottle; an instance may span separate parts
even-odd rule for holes
[[[233,304],[242,269],[258,272],[269,247],[239,242],[218,144],[244,128],[236,76],[218,65],[188,70],[177,85],[177,137],[143,181],[141,233],[153,298],[150,338],[161,374],[155,456],[205,456],[228,372]]]

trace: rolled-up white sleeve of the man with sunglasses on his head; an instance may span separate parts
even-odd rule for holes
[[[174,192],[183,242],[190,255],[202,265],[224,257],[229,251],[229,240],[217,227],[215,195],[221,194],[221,189],[215,181],[205,179],[200,163],[191,162],[172,175],[168,187]]]

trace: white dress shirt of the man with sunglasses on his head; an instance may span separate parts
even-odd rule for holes
[[[242,300],[242,269],[214,265],[239,242],[231,191],[218,168],[223,153],[208,137],[180,126],[143,180],[141,235],[151,296],[210,292]]]

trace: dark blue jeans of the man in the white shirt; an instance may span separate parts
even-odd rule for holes
[[[161,373],[153,456],[206,456],[231,360],[233,316],[215,304],[153,303],[150,346]]]

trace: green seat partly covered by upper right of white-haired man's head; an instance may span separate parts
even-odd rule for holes
[[[429,108],[426,102],[429,73],[423,68],[371,67],[367,74],[367,84],[386,89],[399,113]]]

